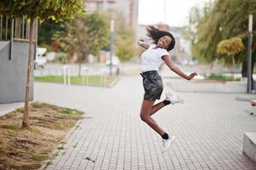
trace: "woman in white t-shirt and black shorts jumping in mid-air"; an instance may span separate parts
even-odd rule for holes
[[[184,100],[179,96],[167,93],[162,102],[154,105],[156,99],[161,98],[163,89],[162,77],[158,74],[158,68],[164,62],[172,71],[186,80],[191,80],[197,73],[193,72],[190,76],[187,76],[171,61],[168,51],[174,48],[175,38],[170,32],[160,31],[154,26],[147,27],[147,31],[147,36],[151,37],[152,43],[149,44],[142,39],[138,42],[139,46],[146,49],[141,54],[142,73],[140,75],[143,77],[145,94],[141,105],[140,118],[162,137],[162,152],[164,152],[168,150],[175,137],[169,136],[168,133],[163,131],[151,116],[166,105],[184,103]]]

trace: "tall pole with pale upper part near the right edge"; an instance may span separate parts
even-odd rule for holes
[[[247,94],[252,93],[252,43],[253,43],[253,14],[249,15],[248,50],[247,50]]]

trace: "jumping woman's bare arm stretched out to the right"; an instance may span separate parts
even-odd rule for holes
[[[196,72],[193,72],[193,73],[191,73],[190,76],[187,76],[183,71],[180,71],[179,68],[176,65],[174,65],[174,63],[171,61],[171,59],[170,59],[170,57],[168,55],[162,56],[162,59],[164,60],[165,64],[168,65],[168,67],[172,71],[174,71],[180,77],[185,78],[186,80],[191,80],[192,78],[194,78],[197,75]]]

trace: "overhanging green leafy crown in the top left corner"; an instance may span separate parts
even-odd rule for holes
[[[40,20],[71,19],[74,14],[82,12],[82,0],[1,0],[0,14],[11,17],[28,16]]]

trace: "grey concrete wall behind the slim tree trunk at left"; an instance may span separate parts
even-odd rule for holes
[[[9,42],[0,42],[0,104],[25,101],[27,55],[28,42],[14,42],[13,56],[9,60]],[[31,69],[33,72],[33,66]],[[31,77],[32,99],[33,76]]]

